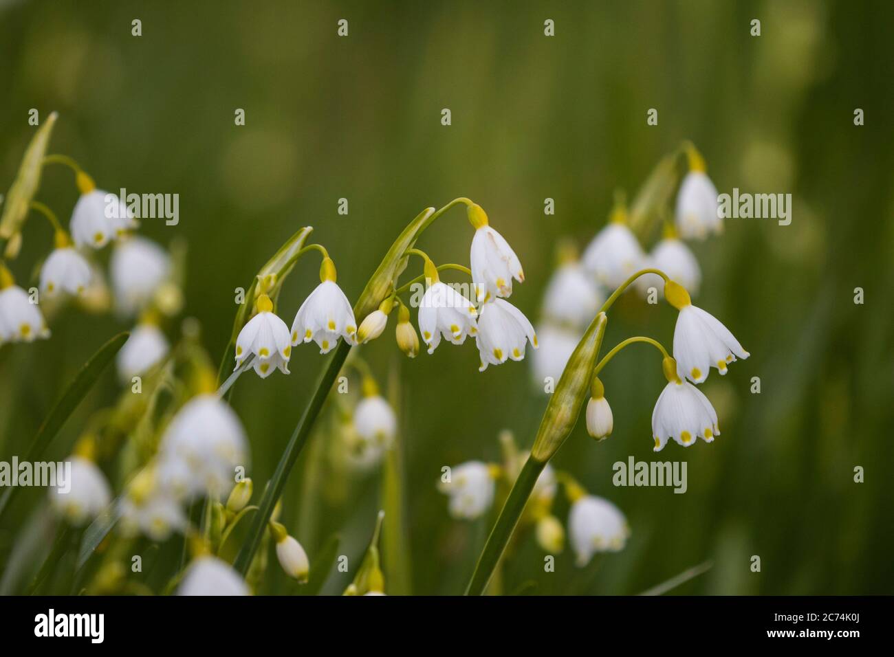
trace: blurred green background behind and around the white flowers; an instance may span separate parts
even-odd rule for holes
[[[347,38],[336,35],[342,18]],[[749,35],[754,18],[759,38]],[[613,190],[633,195],[692,139],[721,192],[794,197],[789,226],[733,219],[721,237],[692,245],[704,274],[697,304],[751,352],[704,386],[723,433],[658,457],[687,460],[686,494],[614,487],[612,463],[654,459],[649,422],[663,383],[651,351],[625,350],[603,376],[611,439],[595,444],[581,422],[554,463],[626,513],[627,549],[583,570],[566,550],[546,574],[527,536],[505,590],[533,580],[527,590],[541,594],[633,594],[712,560],[676,592],[890,594],[892,25],[887,2],[0,2],[0,188],[35,130],[33,107],[41,120],[59,112],[50,152],[76,158],[100,188],[178,193],[180,224],[148,220],[142,232],[187,241],[186,314],[217,359],[234,288],[300,226],[315,227],[356,299],[403,226],[457,196],[484,206],[519,254],[527,280],[511,300],[536,319],[557,241],[586,246]],[[652,107],[657,126],[645,122]],[[47,169],[38,198],[70,216],[71,174]],[[339,198],[349,215],[337,214]],[[555,215],[544,215],[544,198]],[[50,247],[40,221],[24,237],[21,279]],[[455,210],[418,246],[436,262],[468,264],[471,237]],[[287,323],[317,266],[302,260],[286,283]],[[856,287],[864,305],[853,302]],[[644,333],[670,346],[674,320],[664,304],[622,299],[606,346]],[[4,458],[21,453],[76,368],[129,327],[72,310],[51,328],[49,341],[0,350]],[[493,518],[449,518],[435,489],[441,467],[499,459],[504,428],[528,447],[546,399],[530,357],[479,374],[467,342],[410,361],[392,328],[393,319],[362,352],[383,384],[391,371],[400,381],[409,527],[400,560],[414,593],[457,594]],[[316,349],[299,348],[291,376],[240,380],[233,400],[256,482],[272,472],[323,366]],[[749,392],[753,376],[761,394]],[[68,440],[116,391],[110,371],[65,427]],[[315,435],[284,501],[312,562],[335,530],[357,558],[379,504],[375,472],[312,477],[326,438]],[[13,529],[3,528],[5,542]],[[750,571],[752,555],[762,572]],[[346,584],[334,576],[326,591]]]

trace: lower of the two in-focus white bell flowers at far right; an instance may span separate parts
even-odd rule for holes
[[[690,447],[696,438],[713,442],[720,434],[717,412],[702,391],[680,379],[664,386],[652,411],[654,451],[662,451],[671,438]]]

